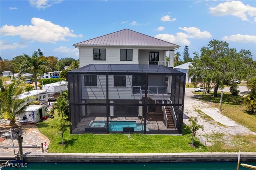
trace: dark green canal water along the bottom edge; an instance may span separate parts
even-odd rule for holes
[[[256,166],[256,162],[241,162]],[[69,163],[30,162],[26,167],[2,167],[4,170],[236,170],[237,162],[165,162],[165,163]],[[248,170],[242,166],[239,170]]]

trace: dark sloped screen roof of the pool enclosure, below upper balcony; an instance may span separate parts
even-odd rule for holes
[[[182,72],[164,65],[138,65],[138,64],[89,64],[68,73],[174,73]],[[184,73],[182,73],[183,75]]]

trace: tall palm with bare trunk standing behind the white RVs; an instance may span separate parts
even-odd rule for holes
[[[51,68],[48,67],[49,63],[47,61],[39,61],[38,52],[34,51],[32,57],[24,53],[25,60],[22,63],[20,67],[20,72],[32,72],[34,73],[34,79],[35,79],[35,87],[37,90],[37,77],[36,73],[38,71],[48,72],[51,71]]]

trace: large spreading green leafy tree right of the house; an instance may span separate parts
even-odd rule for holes
[[[205,83],[214,86],[214,97],[217,96],[218,88],[224,88],[237,77],[241,77],[247,61],[252,57],[246,53],[237,53],[236,49],[230,48],[227,42],[212,40],[207,47],[200,49],[200,56],[194,57],[190,67],[190,77],[199,77]],[[247,66],[246,66],[247,65]]]

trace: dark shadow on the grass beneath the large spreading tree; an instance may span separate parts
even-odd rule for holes
[[[212,93],[210,94],[202,94],[198,92],[194,92],[194,99],[200,99],[202,101],[219,103],[220,102],[220,92],[218,92],[218,97],[213,97]],[[230,94],[223,94],[222,103],[229,105],[243,105],[243,97],[241,96],[232,96]]]

